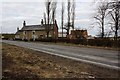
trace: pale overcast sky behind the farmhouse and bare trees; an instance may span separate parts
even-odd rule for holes
[[[66,2],[67,0],[64,0]],[[89,35],[97,35],[99,30],[93,27],[97,0],[75,0],[75,29],[87,29]],[[61,2],[57,1],[56,20],[61,31]],[[46,11],[44,0],[4,0],[0,3],[0,22],[2,33],[15,33],[17,27],[22,28],[23,21],[27,25],[41,24],[43,13]],[[67,11],[67,4],[65,10]],[[64,14],[67,21],[67,12]]]

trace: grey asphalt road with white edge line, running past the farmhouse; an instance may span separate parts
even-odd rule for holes
[[[118,54],[118,51],[22,41],[3,40],[2,42],[102,67],[120,70],[120,66],[118,65],[120,64],[120,55]]]

